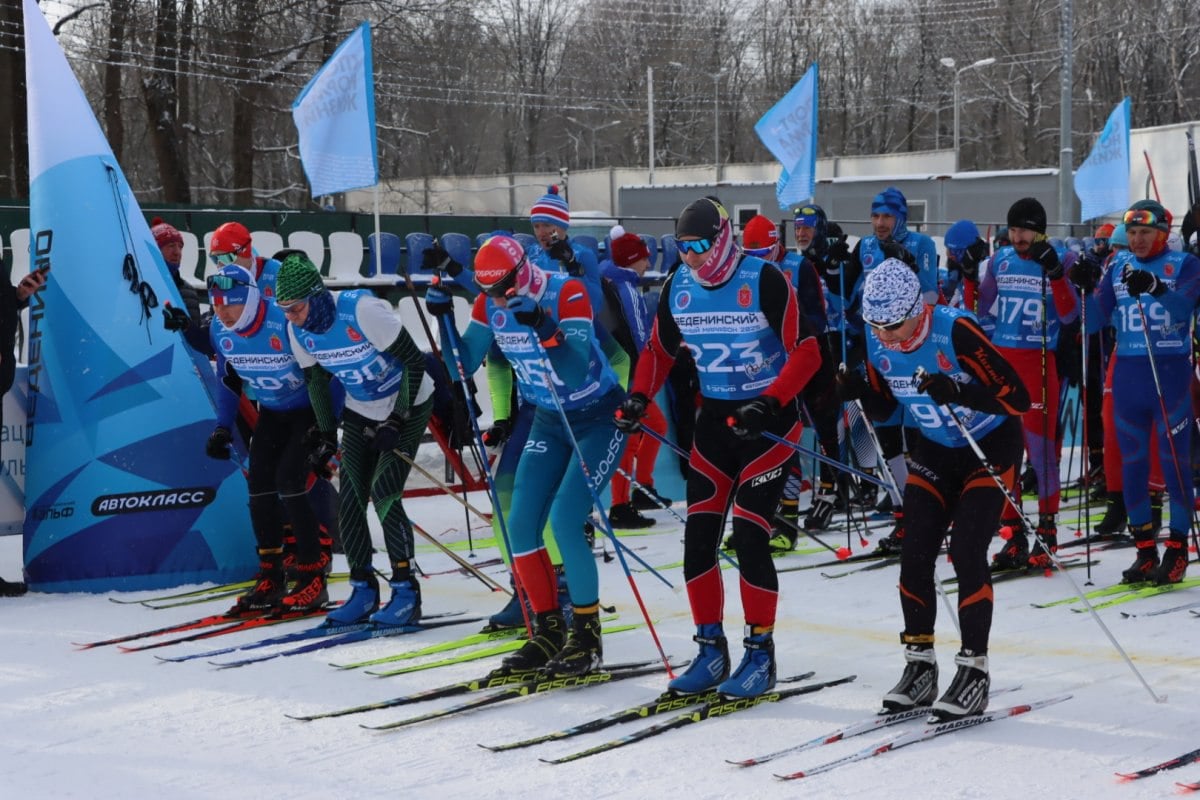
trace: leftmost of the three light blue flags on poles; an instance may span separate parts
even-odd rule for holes
[[[379,182],[371,23],[342,42],[292,103],[312,196]]]

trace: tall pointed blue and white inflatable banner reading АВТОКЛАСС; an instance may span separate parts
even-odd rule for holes
[[[104,591],[248,578],[246,482],[204,456],[211,371],[163,330],[179,293],[66,56],[23,2],[30,258],[50,270],[29,315],[26,579]]]

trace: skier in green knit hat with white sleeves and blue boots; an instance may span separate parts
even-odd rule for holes
[[[283,259],[275,301],[288,318],[292,353],[304,369],[317,417],[308,437],[314,470],[326,469],[337,452],[332,378],[346,387],[337,518],[350,566],[350,596],[326,620],[413,625],[421,618],[421,589],[413,575],[413,529],[402,503],[410,468],[401,455],[415,457],[433,410],[425,356],[390,303],[361,289],[334,295],[302,253]],[[368,501],[383,525],[391,565],[391,599],[383,608],[371,566]]]

